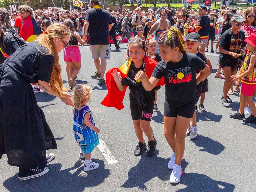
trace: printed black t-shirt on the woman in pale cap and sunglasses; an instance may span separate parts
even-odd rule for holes
[[[238,53],[238,50],[246,45],[246,42],[244,41],[245,40],[244,31],[239,29],[238,45],[236,45],[238,34],[235,34],[235,36],[231,31],[231,29],[228,29],[227,31],[225,31],[222,34],[220,39],[220,47],[224,48],[227,51]],[[231,55],[228,55],[228,54],[220,53],[219,61],[220,61],[220,64],[222,65],[232,64],[237,62],[237,58],[233,58]]]

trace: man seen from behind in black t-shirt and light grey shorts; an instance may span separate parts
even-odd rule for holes
[[[100,7],[99,0],[90,0],[89,6],[91,9],[86,12],[83,39],[87,38],[88,31],[92,59],[97,69],[91,77],[100,78],[99,84],[102,85],[105,84],[104,74],[107,60],[110,59],[108,32],[112,28],[112,21],[108,11]]]

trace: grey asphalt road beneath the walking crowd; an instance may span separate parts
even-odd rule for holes
[[[126,44],[121,44],[121,47],[125,48]],[[242,124],[229,117],[229,113],[239,108],[236,93],[231,96],[234,102],[230,108],[221,105],[223,80],[214,78],[218,54],[207,53],[213,71],[208,77],[206,112],[197,115],[197,138],[186,138],[181,181],[171,185],[171,170],[167,164],[172,151],[163,131],[164,88],[158,92],[159,112],[153,114],[151,121],[157,139],[156,154],[147,157],[144,152],[135,157],[133,150],[138,141],[130,114],[129,91],[124,98],[125,108],[121,111],[100,105],[107,88],[90,76],[95,66],[89,47],[80,46],[80,51],[82,67],[77,82],[93,89],[88,105],[97,127],[101,129],[99,138],[102,142],[101,147],[92,152],[92,159],[100,167],[90,172],[83,171],[84,161],[78,158],[80,149],[73,136],[72,107],[44,92],[36,93],[38,105],[43,109],[58,144],[58,149],[47,152],[54,153],[56,158],[47,165],[49,172],[46,175],[19,181],[18,168],[7,164],[4,155],[0,160],[0,191],[256,191],[256,125]],[[120,66],[125,61],[125,53],[125,49],[112,51],[107,68]],[[60,53],[60,63],[64,87],[68,87],[63,53]]]

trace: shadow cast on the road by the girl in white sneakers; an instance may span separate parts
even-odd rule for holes
[[[212,178],[198,173],[185,173],[185,169],[188,166],[188,162],[185,159],[182,159],[181,167],[183,174],[181,176],[180,184],[186,185],[186,188],[179,189],[178,192],[187,192],[187,191],[234,191],[235,185],[230,183],[213,180]],[[178,185],[178,184],[174,184]]]

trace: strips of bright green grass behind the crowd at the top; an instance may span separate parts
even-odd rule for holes
[[[150,4],[150,3],[142,4],[142,7],[144,7],[144,6],[145,7],[150,7],[150,5],[151,5],[151,7],[153,7],[153,4]],[[177,9],[179,7],[183,7],[183,4],[172,4],[172,0],[170,0],[170,5],[171,5],[171,8],[174,8],[174,9]],[[125,6],[130,6],[130,4],[125,4]],[[156,7],[166,7],[166,6],[167,6],[167,4],[163,4],[163,3],[162,4],[156,4]],[[196,10],[198,6],[199,6],[199,4],[192,4],[192,8],[194,10]],[[242,4],[242,5],[230,6],[230,8],[237,8],[237,7],[245,7],[245,5]],[[215,7],[215,3],[212,3],[211,8],[212,9],[215,9],[215,8],[219,9],[220,8],[220,3],[216,3],[216,7]],[[244,9],[244,10],[246,10],[246,9]]]

